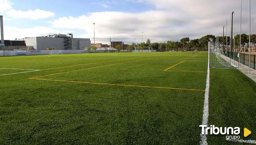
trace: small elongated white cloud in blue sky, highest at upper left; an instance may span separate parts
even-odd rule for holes
[[[54,17],[53,12],[44,11],[40,9],[28,10],[28,11],[11,9],[11,10],[8,10],[6,14],[12,18],[29,18],[34,20]]]

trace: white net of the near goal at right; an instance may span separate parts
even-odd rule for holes
[[[209,42],[208,63],[211,68],[235,68],[223,50],[220,42]]]

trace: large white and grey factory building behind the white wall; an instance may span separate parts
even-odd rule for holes
[[[53,48],[56,50],[81,50],[91,47],[90,38],[73,38],[73,34],[53,34],[41,37],[25,37],[18,40],[25,40],[27,46],[37,50]]]

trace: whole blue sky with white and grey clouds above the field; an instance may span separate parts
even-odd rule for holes
[[[53,33],[73,33],[74,37],[118,38],[131,43],[134,38],[151,42],[222,35],[235,7],[235,30],[239,33],[240,0],[0,0],[5,39]],[[251,1],[251,6],[256,1]],[[252,7],[253,8],[253,7]],[[251,14],[256,13],[251,9]],[[243,2],[242,32],[248,33],[248,2]],[[251,16],[252,33],[256,18]],[[229,30],[229,29],[228,29]],[[143,32],[143,38],[142,38]],[[91,39],[93,40],[93,39]],[[96,39],[96,43],[108,43]]]

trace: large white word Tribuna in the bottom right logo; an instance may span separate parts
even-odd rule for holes
[[[210,127],[207,127],[207,125],[199,125],[199,127],[202,127],[202,134],[208,134],[208,131],[210,130],[210,134],[222,134],[222,135],[238,135],[240,134],[240,128],[239,127],[215,127],[214,125],[210,125]]]

